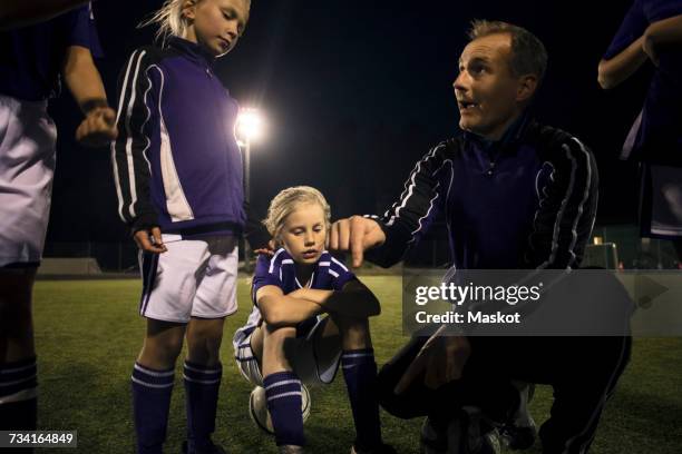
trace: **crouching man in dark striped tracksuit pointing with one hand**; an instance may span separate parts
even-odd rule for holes
[[[380,265],[397,263],[439,215],[456,269],[579,266],[595,220],[597,172],[578,139],[527,111],[545,73],[545,48],[505,22],[475,21],[469,38],[454,82],[464,134],[417,164],[383,216],[332,226],[330,248],[351,250],[354,266],[366,251]],[[462,405],[508,421],[518,408],[516,379],[554,387],[552,416],[539,431],[545,454],[588,451],[630,338],[440,336],[446,328],[412,338],[378,376],[389,413],[428,416],[427,452],[458,452],[449,451],[447,434],[466,424]],[[470,447],[495,448],[484,441]]]

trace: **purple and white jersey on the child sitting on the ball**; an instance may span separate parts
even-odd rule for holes
[[[355,279],[355,275],[348,269],[340,260],[337,260],[327,250],[322,253],[308,283],[301,283],[296,277],[296,267],[293,258],[289,253],[281,248],[274,256],[259,256],[256,260],[253,283],[251,285],[251,297],[253,299],[253,310],[249,316],[246,325],[237,329],[234,335],[234,347],[237,348],[244,339],[261,324],[261,310],[259,309],[256,294],[261,287],[274,285],[282,289],[284,295],[288,295],[299,288],[308,287],[319,290],[341,290],[343,286]],[[314,324],[318,317],[311,317],[302,322],[296,327],[298,336],[305,335]]]

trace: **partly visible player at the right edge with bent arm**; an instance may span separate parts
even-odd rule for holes
[[[654,65],[644,107],[624,159],[642,162],[640,229],[670,239],[682,266],[682,1],[635,0],[604,58],[598,81],[611,89],[647,61]]]

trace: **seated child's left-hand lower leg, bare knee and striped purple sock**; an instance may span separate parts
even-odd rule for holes
[[[275,431],[275,441],[277,446],[303,446],[305,438],[301,411],[301,381],[292,372],[288,359],[292,354],[291,346],[295,340],[296,329],[271,328],[265,324],[261,329],[263,386]]]

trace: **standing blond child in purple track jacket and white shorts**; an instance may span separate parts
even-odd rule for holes
[[[114,177],[118,213],[140,249],[139,313],[147,319],[131,376],[140,454],[162,452],[185,337],[183,452],[224,452],[211,435],[246,216],[232,132],[238,106],[214,67],[236,46],[250,7],[249,0],[166,1],[150,20],[159,24],[160,45],[134,51],[120,76]]]

